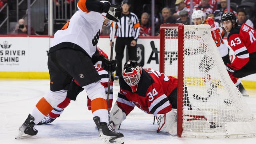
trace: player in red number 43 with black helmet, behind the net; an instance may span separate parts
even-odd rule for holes
[[[234,61],[227,64],[226,69],[240,92],[244,96],[248,96],[237,78],[256,73],[256,31],[246,24],[238,25],[236,16],[232,12],[222,15],[221,25],[226,32],[229,32],[228,45],[235,54]]]

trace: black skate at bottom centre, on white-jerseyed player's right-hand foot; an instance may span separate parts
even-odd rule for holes
[[[124,135],[122,133],[110,130],[108,124],[106,122],[100,122],[98,116],[95,116],[93,120],[98,128],[100,139],[103,140],[103,144],[124,144]]]

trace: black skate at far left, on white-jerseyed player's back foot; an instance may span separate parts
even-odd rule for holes
[[[30,114],[25,122],[19,128],[19,135],[15,139],[30,138],[37,134],[38,130],[35,129],[34,117]]]

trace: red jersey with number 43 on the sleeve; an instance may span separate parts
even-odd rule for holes
[[[234,27],[228,35],[228,45],[236,56],[230,66],[239,70],[249,61],[249,54],[256,52],[255,30],[246,24]]]

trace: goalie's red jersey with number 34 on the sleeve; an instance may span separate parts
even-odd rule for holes
[[[164,114],[172,110],[169,102],[171,92],[177,88],[177,79],[151,68],[142,69],[137,91],[132,93],[130,86],[120,77],[120,92],[116,103],[126,115],[134,106],[148,114]]]

